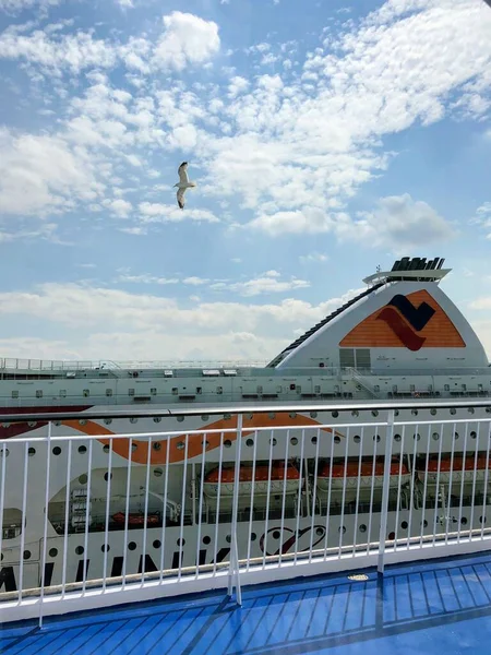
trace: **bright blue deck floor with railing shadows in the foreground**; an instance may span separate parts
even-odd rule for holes
[[[491,555],[125,606],[0,632],[9,655],[491,652]]]

